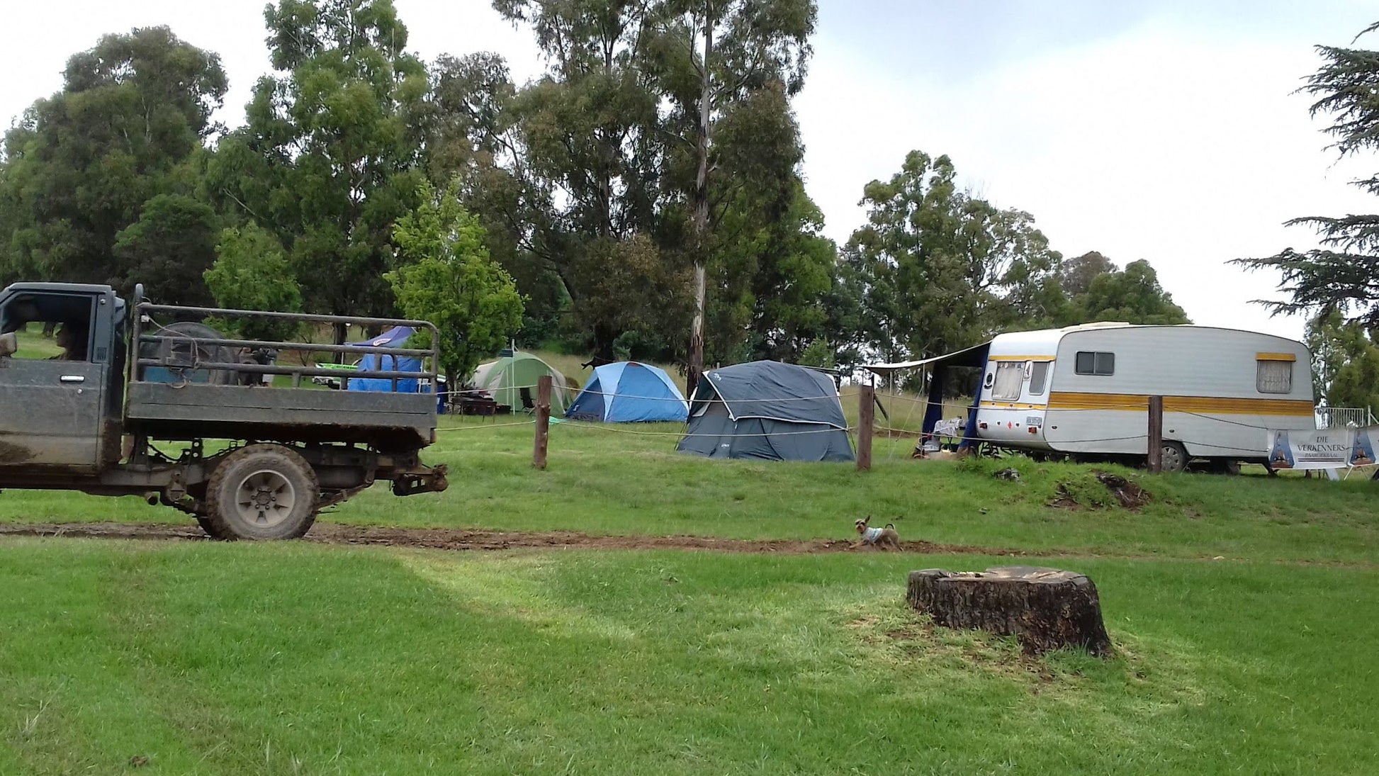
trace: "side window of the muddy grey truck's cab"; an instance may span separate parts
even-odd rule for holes
[[[15,358],[91,360],[95,300],[76,294],[23,294],[0,310],[0,334],[15,332]]]

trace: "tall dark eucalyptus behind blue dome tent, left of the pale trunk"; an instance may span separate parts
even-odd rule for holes
[[[656,339],[680,317],[673,219],[663,218],[665,135],[645,68],[647,1],[495,0],[528,25],[546,72],[510,108],[516,186],[509,211],[530,225],[524,248],[550,267],[574,323],[603,358],[636,332]]]

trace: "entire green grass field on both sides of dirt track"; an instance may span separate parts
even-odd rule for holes
[[[444,493],[348,524],[849,536],[967,555],[0,539],[0,773],[1218,773],[1379,769],[1379,484],[710,462],[677,426],[447,418]],[[992,477],[1019,469],[1019,482]],[[1049,506],[1059,487],[1078,506]],[[185,521],[7,491],[0,521]],[[994,557],[990,550],[1033,551]],[[1117,648],[1027,659],[903,605],[917,568],[1088,573]]]

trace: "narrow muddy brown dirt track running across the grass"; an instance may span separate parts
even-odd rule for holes
[[[0,536],[70,536],[97,539],[208,540],[196,525],[164,522],[0,524]],[[712,550],[718,553],[845,553],[844,539],[717,539],[712,536],[596,536],[574,531],[466,531],[447,528],[381,528],[317,522],[302,539],[324,544],[381,544],[437,550],[517,550],[583,547],[596,550]],[[902,542],[907,553],[1026,555],[1025,550]],[[1048,553],[1041,553],[1048,554]]]

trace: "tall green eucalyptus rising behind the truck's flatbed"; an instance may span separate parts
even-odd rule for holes
[[[263,17],[274,72],[210,189],[279,237],[308,310],[392,313],[392,229],[425,178],[426,69],[392,0],[280,0]]]

